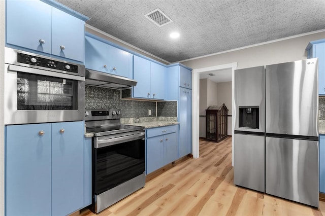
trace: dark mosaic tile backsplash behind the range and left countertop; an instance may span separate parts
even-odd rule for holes
[[[121,91],[86,85],[86,109],[120,109],[121,118],[177,117],[177,101],[121,100]],[[148,115],[151,110],[151,115]]]

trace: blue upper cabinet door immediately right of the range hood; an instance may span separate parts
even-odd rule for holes
[[[150,94],[150,61],[139,56],[133,59],[133,78],[138,81],[133,87],[134,97],[151,98]]]

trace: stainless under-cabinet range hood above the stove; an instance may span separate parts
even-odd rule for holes
[[[137,85],[137,81],[120,77],[100,71],[86,69],[86,85],[108,87],[108,88],[125,88]]]

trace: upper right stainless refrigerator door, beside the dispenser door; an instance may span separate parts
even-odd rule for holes
[[[312,58],[266,66],[266,133],[318,136],[317,65]]]

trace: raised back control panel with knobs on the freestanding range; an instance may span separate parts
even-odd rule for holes
[[[103,109],[103,110],[86,110],[85,120],[110,120],[120,119],[121,110],[119,109]]]

